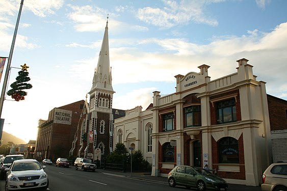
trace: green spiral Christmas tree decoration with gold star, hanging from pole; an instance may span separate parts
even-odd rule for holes
[[[7,92],[7,95],[11,96],[15,101],[24,100],[24,96],[27,95],[27,92],[22,90],[31,89],[33,87],[31,84],[25,83],[30,81],[30,77],[28,77],[29,72],[27,70],[29,66],[24,64],[23,66],[21,65],[21,67],[22,69],[18,72],[19,75],[16,77],[16,81],[10,85],[12,89]]]

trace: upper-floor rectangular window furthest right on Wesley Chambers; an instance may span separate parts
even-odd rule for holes
[[[217,123],[230,123],[236,121],[235,99],[228,99],[217,103]]]

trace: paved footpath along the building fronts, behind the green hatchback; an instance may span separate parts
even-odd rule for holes
[[[103,169],[97,169],[96,172],[111,175],[111,176],[121,176],[125,178],[132,178],[132,179],[138,179],[142,181],[150,181],[150,182],[156,182],[156,183],[168,185],[167,177],[151,176],[151,174],[148,172],[132,172],[131,173],[131,172],[110,171],[110,170],[103,170]],[[228,191],[261,191],[261,186],[228,184]]]

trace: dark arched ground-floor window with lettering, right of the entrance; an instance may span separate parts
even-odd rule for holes
[[[239,163],[238,141],[231,137],[221,139],[219,142],[219,162]]]

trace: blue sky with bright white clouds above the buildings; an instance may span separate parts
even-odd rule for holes
[[[20,2],[0,1],[0,57],[9,57]],[[153,91],[175,92],[175,75],[206,64],[214,80],[237,72],[242,58],[268,94],[286,100],[286,8],[285,0],[24,0],[7,89],[23,64],[33,88],[18,102],[6,95],[4,131],[36,140],[39,119],[86,99],[107,17],[113,108],[144,111]]]

